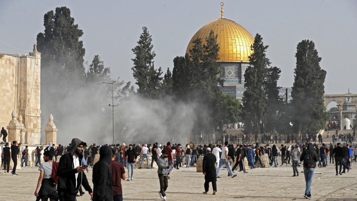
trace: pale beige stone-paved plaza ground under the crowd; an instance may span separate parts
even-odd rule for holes
[[[290,164],[289,164],[290,165]],[[355,168],[353,168],[355,167]],[[316,168],[312,183],[312,200],[357,200],[357,163],[352,170],[342,176],[336,176],[335,166]],[[299,168],[301,172],[302,166]],[[125,170],[127,172],[127,169]],[[157,170],[135,169],[133,181],[122,181],[124,200],[161,200],[157,191],[160,184]],[[2,171],[1,171],[2,172]],[[237,172],[237,171],[236,171]],[[0,174],[0,200],[22,201],[35,200],[34,191],[39,176],[35,167],[27,167],[17,171],[19,176],[10,173]],[[293,175],[291,166],[277,168],[256,168],[248,173],[237,172],[235,178],[227,177],[227,170],[220,173],[217,180],[217,194],[203,195],[204,176],[196,172],[196,168],[181,168],[171,172],[167,200],[306,200],[305,178],[303,173]],[[127,173],[126,173],[127,176]],[[91,169],[87,173],[90,184]],[[91,184],[92,186],[92,184]],[[89,200],[88,192],[78,201]]]

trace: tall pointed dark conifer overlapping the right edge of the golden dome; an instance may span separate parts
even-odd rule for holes
[[[260,135],[261,123],[266,118],[266,90],[268,89],[265,84],[274,84],[273,78],[270,81],[266,80],[268,67],[271,64],[266,57],[267,48],[268,45],[263,44],[261,35],[256,34],[254,43],[251,45],[253,53],[248,57],[250,66],[244,74],[246,90],[243,93],[242,117],[246,133],[258,132],[258,135]],[[277,69],[273,69],[272,72],[272,75],[277,76]],[[275,91],[272,90],[272,93],[269,94],[274,96],[274,93]]]

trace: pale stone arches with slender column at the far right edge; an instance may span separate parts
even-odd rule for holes
[[[338,105],[338,111],[340,112],[340,117],[342,117],[342,106],[345,103],[355,104],[357,114],[357,94],[352,94],[350,92],[346,94],[325,94],[323,95],[323,100],[325,107],[333,101],[336,102]],[[342,118],[339,118],[338,121],[340,125],[342,125]],[[340,130],[342,130],[342,126],[340,126]]]

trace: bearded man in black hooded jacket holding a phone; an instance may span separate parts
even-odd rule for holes
[[[75,201],[76,192],[82,185],[93,198],[92,188],[89,186],[87,177],[83,172],[86,167],[82,167],[83,147],[87,144],[78,138],[73,138],[69,152],[61,157],[57,168],[59,176],[57,192],[60,201]]]

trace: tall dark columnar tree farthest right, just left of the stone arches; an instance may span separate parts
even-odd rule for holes
[[[323,103],[326,71],[313,41],[297,45],[295,79],[291,92],[293,129],[297,134],[317,132],[325,127],[327,112]]]

